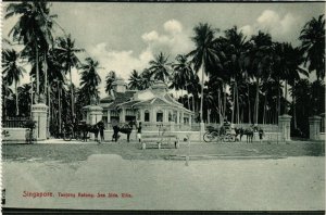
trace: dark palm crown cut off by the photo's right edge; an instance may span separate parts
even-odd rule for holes
[[[306,52],[304,65],[309,62],[309,71],[316,71],[317,79],[325,77],[325,18],[313,17],[301,30],[299,39]]]

